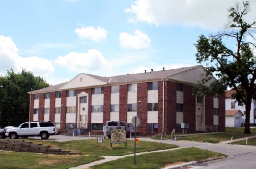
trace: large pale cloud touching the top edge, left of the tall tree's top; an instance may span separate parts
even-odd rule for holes
[[[178,24],[201,28],[222,28],[227,22],[228,8],[234,0],[137,0],[125,12],[136,14],[129,22],[141,21],[156,26]],[[256,8],[256,1],[250,6]],[[252,14],[252,12],[251,12]]]

